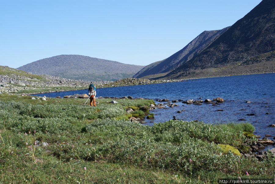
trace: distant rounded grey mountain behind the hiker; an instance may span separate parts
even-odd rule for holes
[[[17,69],[66,79],[116,81],[133,76],[143,67],[88,56],[59,55],[34,61]]]

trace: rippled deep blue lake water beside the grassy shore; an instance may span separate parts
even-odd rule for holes
[[[88,88],[88,86],[87,86]],[[212,104],[187,105],[181,102],[179,106],[167,109],[152,110],[155,119],[147,120],[148,125],[152,122],[164,122],[173,119],[192,121],[199,120],[205,123],[228,123],[241,122],[239,119],[255,126],[255,134],[262,138],[265,134],[275,136],[275,73],[257,75],[239,75],[229,77],[215,77],[205,79],[192,79],[175,83],[148,84],[138,86],[122,86],[111,88],[97,88],[97,97],[123,97],[150,98],[172,100],[201,100],[221,97],[224,103],[212,106]],[[88,94],[88,90],[66,91],[36,96],[55,98],[73,94]],[[246,103],[251,101],[251,103]],[[158,102],[156,103],[164,103]],[[217,111],[222,109],[223,111]],[[177,111],[181,110],[181,113]],[[184,110],[184,111],[183,111]],[[247,114],[255,114],[248,116]],[[270,139],[273,139],[270,137]]]

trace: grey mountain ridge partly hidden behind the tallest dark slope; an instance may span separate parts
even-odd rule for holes
[[[163,61],[157,61],[155,63],[149,64],[133,77],[141,78],[146,75],[161,74],[173,71],[174,69],[178,68],[179,66],[196,56],[197,53],[202,51],[206,46],[213,42],[228,28],[229,27],[222,30],[202,32],[182,50],[174,53],[172,56],[164,59]]]

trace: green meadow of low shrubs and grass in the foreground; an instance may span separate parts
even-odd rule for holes
[[[86,99],[43,101],[0,94],[0,183],[216,183],[218,178],[274,178],[272,153],[259,161],[233,152],[247,139],[244,132],[254,131],[249,123],[170,120],[146,126],[128,118],[149,115],[139,108],[153,100],[110,101],[98,99],[97,107],[91,107],[83,105]],[[127,114],[129,108],[135,111]]]

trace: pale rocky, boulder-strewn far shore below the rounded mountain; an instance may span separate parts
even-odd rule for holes
[[[32,75],[28,72],[23,72],[17,69],[1,66],[2,73],[0,75],[0,93],[20,93],[20,91],[31,90],[43,90],[42,92],[22,93],[26,95],[63,92],[87,89],[90,83],[93,83],[97,88],[103,87],[116,87],[116,86],[129,86],[129,85],[143,85],[143,84],[155,84],[155,83],[168,83],[168,82],[180,82],[181,79],[176,80],[149,80],[138,78],[126,78],[117,81],[84,81],[73,80],[55,77],[51,75]],[[12,74],[8,74],[11,73]],[[16,74],[15,74],[16,73]],[[38,79],[39,78],[39,79]],[[70,88],[64,90],[63,88]],[[75,88],[75,89],[73,89]],[[54,89],[54,90],[52,90]]]

